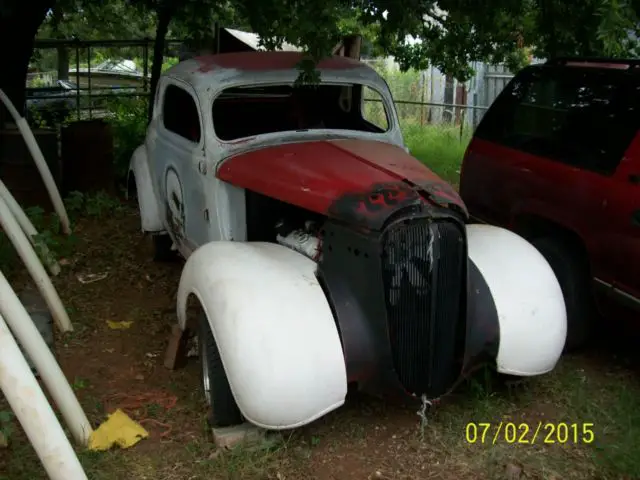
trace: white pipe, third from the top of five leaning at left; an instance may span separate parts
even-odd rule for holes
[[[2,226],[5,234],[9,237],[9,240],[11,240],[11,243],[13,243],[13,246],[18,251],[18,255],[22,258],[27,270],[29,270],[31,278],[33,278],[40,294],[47,302],[51,315],[56,321],[58,328],[60,328],[62,332],[73,331],[69,314],[67,314],[67,311],[62,304],[62,300],[60,300],[60,297],[58,296],[58,292],[53,286],[53,283],[51,283],[49,275],[47,275],[42,263],[40,263],[40,259],[38,258],[36,251],[29,243],[29,239],[20,228],[20,225],[14,218],[11,210],[2,198],[0,198],[0,226]]]

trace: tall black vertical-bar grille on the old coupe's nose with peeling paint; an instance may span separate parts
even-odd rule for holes
[[[452,221],[401,222],[383,237],[393,362],[409,393],[440,395],[459,373],[465,252],[464,233]]]

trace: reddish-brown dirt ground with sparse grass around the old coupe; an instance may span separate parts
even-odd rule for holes
[[[75,235],[75,253],[55,279],[75,331],[57,335],[56,356],[94,425],[122,408],[150,432],[127,450],[79,450],[89,478],[640,478],[640,460],[634,460],[640,459],[637,378],[608,352],[567,357],[553,374],[514,385],[496,387],[480,375],[429,411],[426,423],[415,408],[353,395],[275,448],[216,451],[197,359],[177,371],[163,366],[182,263],[152,262],[149,240],[129,206],[79,220]],[[90,274],[106,277],[80,281]],[[22,288],[22,275],[12,280],[16,290]],[[132,323],[113,330],[107,321]],[[8,408],[0,401],[2,410]],[[521,441],[502,435],[491,441],[500,422],[533,430],[540,421],[579,430],[593,423],[595,441],[525,443],[531,434],[519,435]],[[470,422],[491,422],[484,444],[469,442]],[[0,449],[0,479],[46,478],[13,424],[9,447]]]

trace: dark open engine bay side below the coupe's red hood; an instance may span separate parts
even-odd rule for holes
[[[326,216],[290,203],[245,191],[247,241],[279,243],[319,261]]]

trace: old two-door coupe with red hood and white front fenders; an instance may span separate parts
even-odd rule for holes
[[[213,424],[307,424],[347,386],[423,402],[482,362],[549,372],[566,336],[542,255],[469,225],[453,188],[404,145],[386,82],[359,61],[293,52],[183,61],[160,78],[133,154],[142,230],[186,263],[202,310]]]

